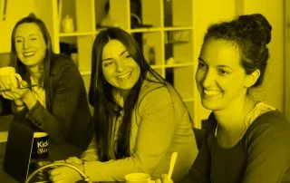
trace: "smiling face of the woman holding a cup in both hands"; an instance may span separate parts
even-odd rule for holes
[[[37,24],[20,24],[14,35],[14,45],[19,60],[25,66],[34,67],[43,63],[47,46]]]

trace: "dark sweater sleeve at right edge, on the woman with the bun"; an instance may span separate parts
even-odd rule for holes
[[[278,114],[259,120],[263,123],[256,125],[248,137],[247,169],[242,182],[282,182],[290,167],[290,126]]]

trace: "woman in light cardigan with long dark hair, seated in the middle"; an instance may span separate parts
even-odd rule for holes
[[[97,35],[89,95],[95,136],[81,159],[67,161],[92,181],[123,181],[133,172],[159,178],[168,172],[174,151],[172,178],[188,172],[198,153],[189,111],[179,93],[150,68],[131,34],[108,28]],[[53,169],[51,178],[80,179],[64,167]]]

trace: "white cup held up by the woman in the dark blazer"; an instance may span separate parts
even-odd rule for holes
[[[14,67],[1,67],[0,68],[0,80],[13,83],[15,87],[19,86],[19,82],[22,82],[21,75],[15,72]]]

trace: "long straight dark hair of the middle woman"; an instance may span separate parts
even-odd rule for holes
[[[131,57],[140,66],[140,78],[132,87],[131,92],[124,102],[123,109],[112,100],[112,86],[105,83],[102,77],[102,49],[111,39],[123,43]],[[144,59],[139,44],[133,36],[120,28],[108,28],[100,32],[92,46],[92,75],[89,91],[89,100],[94,107],[93,120],[98,144],[99,159],[106,161],[110,159],[109,148],[111,142],[112,118],[118,117],[120,111],[124,111],[121,127],[118,132],[117,159],[130,156],[130,135],[131,135],[131,113],[139,97],[140,87],[147,78],[147,73],[156,78],[156,82],[166,83],[160,74],[150,68],[149,63]]]

